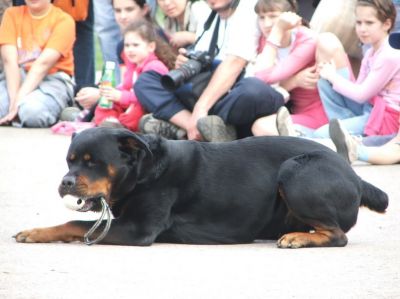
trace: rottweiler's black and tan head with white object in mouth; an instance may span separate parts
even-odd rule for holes
[[[77,211],[100,211],[101,197],[112,209],[145,180],[152,153],[129,130],[93,128],[72,137],[67,163],[69,171],[58,189],[65,204]]]

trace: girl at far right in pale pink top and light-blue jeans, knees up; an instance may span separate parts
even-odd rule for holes
[[[325,56],[326,62],[320,65],[323,79],[318,86],[326,114],[329,119],[340,119],[353,135],[388,135],[399,129],[400,53],[388,44],[395,18],[396,9],[390,0],[358,1],[356,33],[362,43],[371,47],[362,60],[357,80],[348,78],[348,68],[340,68],[338,56],[343,48],[331,47],[334,55]],[[330,45],[326,43],[326,47]],[[314,132],[314,137],[328,137],[327,131],[324,126]]]

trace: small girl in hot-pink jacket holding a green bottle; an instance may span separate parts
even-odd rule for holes
[[[113,108],[107,109],[98,105],[94,114],[96,125],[138,130],[139,120],[144,111],[136,98],[133,85],[143,72],[156,71],[162,75],[168,72],[168,68],[161,59],[165,60],[171,56],[169,53],[165,55],[165,52],[162,52],[164,48],[166,49],[157,32],[146,20],[131,23],[125,29],[124,80],[118,88],[100,87],[100,95],[113,101]],[[167,61],[165,63],[169,64]]]

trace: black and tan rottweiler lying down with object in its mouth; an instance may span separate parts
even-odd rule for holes
[[[105,244],[345,246],[360,206],[388,206],[386,193],[337,153],[294,137],[206,143],[93,128],[72,138],[67,163],[61,197],[84,200],[81,211],[99,211],[103,197],[112,211]],[[82,241],[93,225],[71,221],[15,238]]]

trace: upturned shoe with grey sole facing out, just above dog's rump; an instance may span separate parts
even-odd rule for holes
[[[329,136],[336,146],[336,151],[349,164],[357,160],[357,141],[344,129],[339,120],[331,119],[329,122]]]

